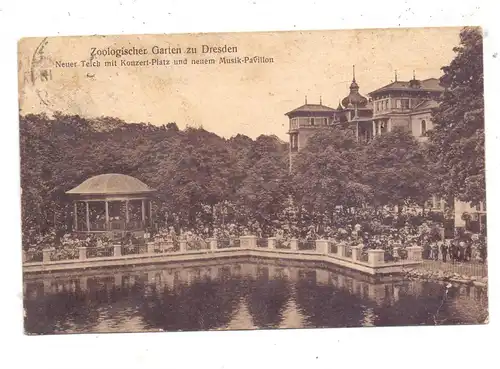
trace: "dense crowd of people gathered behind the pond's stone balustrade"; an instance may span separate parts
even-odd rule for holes
[[[455,231],[455,237],[444,237],[442,219],[434,213],[418,211],[393,212],[388,209],[357,209],[339,211],[328,221],[307,224],[296,218],[276,219],[261,224],[251,221],[247,224],[223,223],[207,226],[202,222],[190,228],[176,224],[165,224],[156,229],[148,229],[144,237],[137,238],[125,234],[119,241],[124,247],[133,247],[149,241],[169,243],[173,249],[179,248],[179,241],[186,240],[188,249],[208,248],[207,239],[215,238],[219,244],[231,244],[232,240],[243,235],[255,235],[259,239],[275,237],[280,245],[291,239],[312,241],[330,239],[346,245],[363,245],[363,253],[369,249],[385,250],[386,259],[403,257],[408,246],[423,247],[423,258],[443,262],[485,262],[487,258],[486,236],[472,234],[463,229]],[[56,233],[34,239],[35,245],[59,245],[63,249],[76,249],[78,246],[105,247],[116,243],[102,235],[64,234],[57,240]]]

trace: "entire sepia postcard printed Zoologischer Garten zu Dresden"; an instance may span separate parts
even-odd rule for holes
[[[26,334],[488,322],[481,28],[18,59]]]

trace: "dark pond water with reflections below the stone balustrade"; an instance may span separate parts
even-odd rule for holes
[[[24,282],[31,334],[477,324],[486,290],[249,262]]]

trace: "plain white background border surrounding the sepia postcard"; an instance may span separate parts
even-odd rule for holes
[[[495,354],[498,272],[490,268],[490,324],[470,327],[398,327],[300,331],[106,334],[27,337],[22,333],[19,210],[19,146],[16,43],[25,36],[230,32],[482,25],[488,203],[497,204],[494,162],[500,126],[498,69],[500,32],[494,2],[475,1],[4,1],[0,5],[1,145],[3,179],[0,304],[4,367],[489,367]],[[196,9],[196,12],[194,11]],[[495,205],[489,206],[490,260],[498,256]],[[4,298],[2,298],[4,300]],[[495,330],[495,331],[494,331]],[[10,365],[9,365],[10,364]]]

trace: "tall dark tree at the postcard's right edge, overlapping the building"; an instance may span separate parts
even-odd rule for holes
[[[486,196],[481,30],[464,28],[454,51],[455,58],[442,68],[445,92],[433,112],[428,156],[440,195],[477,204]]]

